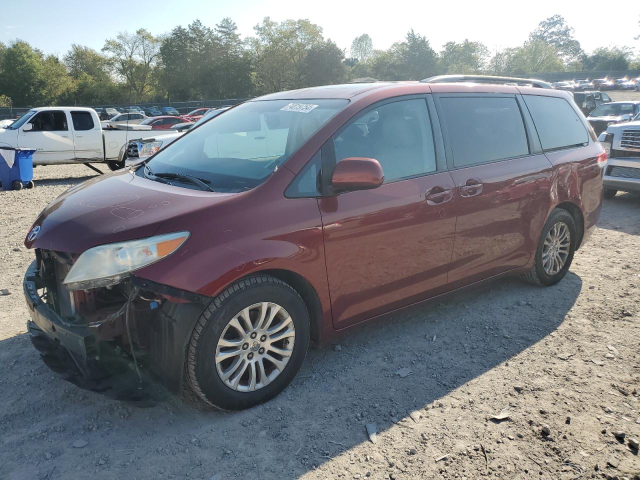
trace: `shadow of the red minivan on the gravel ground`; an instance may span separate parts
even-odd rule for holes
[[[95,468],[94,479],[294,479],[368,442],[369,423],[377,426],[378,443],[368,450],[382,456],[392,419],[430,408],[456,389],[467,405],[465,383],[554,332],[581,288],[573,273],[549,288],[499,280],[447,303],[407,308],[347,333],[340,349],[309,351],[285,392],[236,413],[180,399],[131,408],[80,390],[50,372],[27,335],[18,335],[0,342],[3,451],[14,452],[0,453],[0,476],[35,477],[42,463],[36,470],[42,477],[85,465]],[[396,372],[405,367],[413,374],[401,378]],[[511,381],[518,379],[493,387],[513,392]],[[474,408],[456,415],[474,415],[481,425],[497,413],[487,403]],[[88,442],[84,450],[72,447],[77,440]],[[44,452],[52,458],[45,460]],[[79,452],[89,463],[79,461]]]

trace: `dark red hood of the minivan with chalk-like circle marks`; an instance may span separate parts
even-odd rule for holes
[[[24,244],[27,248],[81,253],[99,244],[150,237],[165,233],[161,232],[164,221],[234,195],[161,184],[127,169],[118,170],[58,196],[40,213]]]

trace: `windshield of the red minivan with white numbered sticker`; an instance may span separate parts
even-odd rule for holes
[[[180,173],[214,191],[237,193],[259,186],[348,100],[257,100],[193,127],[150,158],[153,175]],[[139,168],[145,176],[149,169]],[[195,188],[186,182],[176,185]]]

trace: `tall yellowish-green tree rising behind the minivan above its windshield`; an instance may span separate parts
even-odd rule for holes
[[[258,92],[280,92],[303,85],[307,51],[324,42],[322,29],[308,20],[274,22],[269,17],[254,27],[249,39],[253,53],[253,77]]]

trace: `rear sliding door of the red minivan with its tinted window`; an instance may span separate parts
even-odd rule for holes
[[[437,100],[456,185],[449,282],[459,287],[527,264],[547,211],[551,164],[515,95]]]

